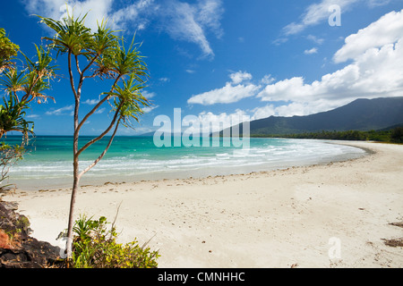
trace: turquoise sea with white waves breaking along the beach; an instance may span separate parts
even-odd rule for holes
[[[81,137],[82,146],[90,137]],[[107,145],[99,140],[81,155],[81,170],[92,163]],[[8,137],[7,144],[21,138]],[[152,137],[116,137],[81,184],[107,181],[201,178],[225,174],[270,171],[291,166],[328,164],[357,158],[365,151],[356,147],[311,139],[249,139],[249,146],[156,147]],[[8,183],[19,189],[57,189],[72,185],[73,137],[38,136],[30,139],[28,152],[9,172]],[[6,182],[7,183],[7,182]]]

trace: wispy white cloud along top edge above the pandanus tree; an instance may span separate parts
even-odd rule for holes
[[[198,0],[185,3],[178,0],[158,2],[137,0],[114,10],[117,0],[23,0],[29,13],[39,14],[61,20],[67,12],[75,16],[87,12],[85,24],[90,29],[97,29],[97,21],[108,20],[113,29],[130,32],[142,30],[154,24],[177,40],[192,42],[201,47],[202,55],[213,57],[206,33],[212,32],[217,38],[223,35],[220,20],[224,13],[222,0]]]

